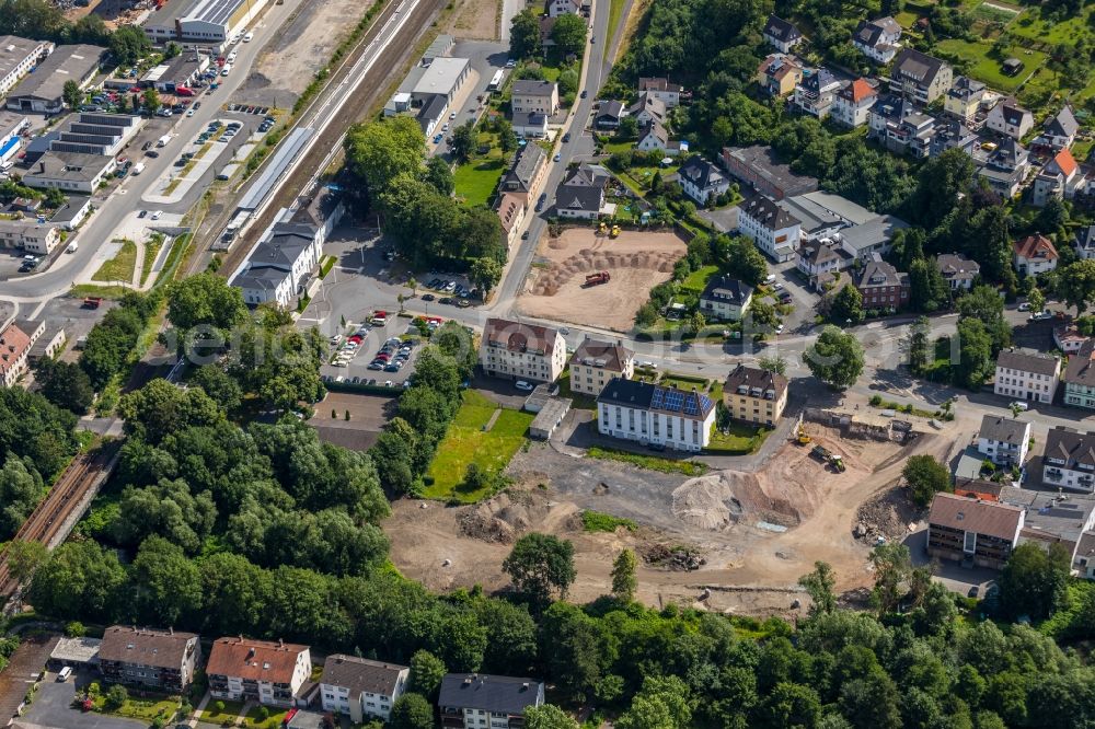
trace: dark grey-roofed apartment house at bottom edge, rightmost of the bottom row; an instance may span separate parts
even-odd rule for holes
[[[521,729],[543,703],[539,681],[486,673],[447,673],[437,698],[442,729]]]

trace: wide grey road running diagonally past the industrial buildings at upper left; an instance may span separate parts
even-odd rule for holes
[[[194,116],[176,116],[171,134],[176,138],[163,149],[163,153],[157,159],[146,158],[142,161],[146,170],[136,177],[127,177],[106,198],[99,210],[80,230],[74,239],[80,243],[76,253],[60,256],[57,263],[48,270],[34,276],[21,277],[9,281],[0,282],[0,300],[14,303],[35,303],[62,296],[68,292],[72,282],[78,278],[80,271],[85,270],[95,264],[95,256],[104,243],[108,243],[114,238],[114,231],[129,216],[136,215],[137,210],[146,206],[140,198],[153,190],[157,180],[174,164],[178,153],[183,151],[184,144],[193,139],[204,129],[211,119],[218,117],[222,112],[222,105],[232,100],[235,90],[246,80],[247,72],[254,61],[258,58],[263,47],[269,42],[278,27],[289,18],[304,0],[286,0],[285,4],[270,4],[262,19],[252,27],[254,39],[251,43],[240,43],[234,47],[239,54],[234,63],[237,72],[227,77],[218,77],[222,81],[221,85],[211,95],[203,94],[196,101],[201,102]],[[129,150],[130,157],[139,154],[139,150]],[[203,192],[201,185],[194,185],[192,199],[186,199],[174,205],[157,205],[166,211],[183,212],[186,210]]]

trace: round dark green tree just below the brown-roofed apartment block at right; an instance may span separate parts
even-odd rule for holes
[[[1071,559],[1060,544],[1021,544],[1000,575],[1000,604],[1012,617],[1049,617],[1065,603]]]

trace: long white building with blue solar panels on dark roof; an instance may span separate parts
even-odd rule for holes
[[[698,452],[711,442],[715,403],[694,390],[613,378],[597,397],[602,436]]]

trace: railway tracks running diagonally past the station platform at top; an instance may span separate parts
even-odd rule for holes
[[[389,46],[381,53],[378,62],[364,78],[350,88],[346,88],[346,81],[351,78],[358,61],[362,55],[368,54],[373,44],[380,39],[380,35],[388,23],[397,13],[403,12],[411,3],[404,0],[390,0],[385,12],[376,20],[369,32],[364,34],[361,40],[354,51],[347,54],[323,93],[312,101],[308,109],[300,115],[295,128],[319,126],[320,117],[325,119],[323,130],[318,135],[307,152],[276,186],[273,197],[263,212],[251,222],[247,233],[242,235],[232,245],[232,248],[222,254],[220,268],[221,275],[230,276],[232,271],[243,262],[244,257],[254,246],[258,236],[274,222],[274,218],[280,208],[291,206],[298,197],[309,192],[309,187],[315,178],[331,163],[342,147],[350,125],[360,119],[376,102],[377,95],[391,83],[390,71],[402,68],[403,63],[414,53],[416,39],[429,28],[431,19],[443,7],[443,0],[422,0],[411,9],[410,16],[405,25],[394,33]],[[332,99],[339,94],[347,94],[347,100],[332,115],[327,109]],[[273,154],[270,154],[270,158]],[[269,159],[269,158],[267,158]],[[256,175],[261,173],[256,172]],[[234,215],[235,207],[226,205],[224,209],[211,221],[205,221],[205,233],[198,239],[197,244],[201,255],[192,258],[191,270],[194,274],[204,270],[210,256],[209,246],[219,236],[220,231],[228,224]]]

